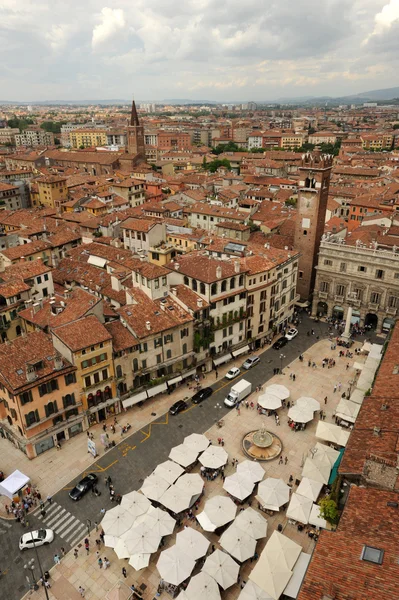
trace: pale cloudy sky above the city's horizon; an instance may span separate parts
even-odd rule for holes
[[[399,85],[399,0],[0,0],[0,101]]]

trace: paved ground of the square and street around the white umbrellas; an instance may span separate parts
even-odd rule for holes
[[[315,335],[307,336],[307,327],[310,328],[311,326],[315,329]],[[282,352],[271,349],[263,352],[261,363],[245,373],[244,377],[252,381],[253,387],[264,385],[265,381],[267,383],[282,383],[290,389],[291,399],[294,401],[301,395],[313,396],[320,401],[323,401],[324,397],[327,396],[328,402],[322,406],[322,409],[327,413],[326,421],[332,422],[332,415],[341,395],[338,392],[333,393],[334,385],[341,382],[341,393],[347,389],[348,381],[354,376],[352,368],[354,359],[339,359],[339,348],[334,351],[331,350],[331,344],[325,338],[327,328],[324,324],[313,325],[312,322],[304,321],[300,329],[302,330],[301,335],[283,348]],[[320,341],[317,341],[317,336],[320,337]],[[324,339],[322,339],[323,337]],[[360,346],[361,342],[358,342],[357,345]],[[310,349],[307,350],[306,348]],[[301,352],[304,352],[305,356],[302,363],[297,359]],[[281,354],[283,354],[283,357],[281,357]],[[336,367],[322,369],[321,360],[324,357],[334,357],[337,361]],[[307,366],[308,360],[315,361],[317,368],[309,368]],[[359,360],[359,357],[357,357],[357,360]],[[70,548],[78,548],[79,550],[78,558],[75,559],[73,552],[69,552],[62,559],[61,565],[52,568],[53,586],[49,591],[50,598],[59,600],[78,598],[80,595],[77,590],[80,585],[86,589],[86,598],[95,600],[107,597],[106,593],[112,590],[113,586],[118,586],[119,580],[124,579],[121,575],[123,566],[126,566],[128,577],[121,582],[120,594],[123,593],[123,586],[126,582],[129,585],[134,582],[139,585],[144,583],[147,586],[144,594],[145,598],[152,599],[155,596],[159,583],[159,574],[155,568],[157,555],[153,556],[149,568],[135,572],[127,564],[127,561],[119,561],[112,549],[102,548],[101,555],[106,556],[111,561],[111,567],[103,571],[98,568],[97,557],[93,548],[95,534],[92,533],[90,536],[92,548],[89,555],[86,555],[81,542],[87,535],[87,519],[91,521],[89,525],[93,526],[94,521],[100,521],[101,519],[101,508],[109,509],[113,506],[105,492],[102,481],[104,475],[111,475],[117,493],[123,494],[132,489],[138,489],[142,480],[155,466],[167,459],[170,449],[181,443],[183,438],[193,431],[207,431],[209,439],[216,444],[217,438],[222,435],[229,458],[234,457],[241,461],[244,459],[241,451],[242,437],[251,429],[257,428],[266,422],[267,428],[282,439],[284,445],[283,456],[288,458],[287,465],[278,464],[278,459],[271,463],[264,463],[266,476],[281,477],[288,482],[290,475],[293,475],[294,479],[300,475],[304,457],[316,441],[314,432],[318,417],[308,425],[305,431],[293,432],[287,425],[286,409],[280,409],[281,425],[277,427],[272,417],[260,416],[256,410],[244,407],[238,415],[234,409],[228,411],[223,408],[223,398],[232,385],[222,379],[223,375],[233,364],[240,365],[242,362],[243,360],[237,360],[220,368],[218,381],[215,381],[214,373],[208,375],[203,385],[212,385],[215,390],[214,395],[204,401],[203,404],[193,408],[190,407],[188,411],[176,417],[170,417],[165,411],[177,399],[192,395],[192,391],[185,386],[179,388],[170,396],[162,396],[152,404],[144,405],[141,408],[135,407],[133,410],[121,415],[118,421],[120,423],[129,421],[135,432],[121,441],[120,431],[117,431],[114,437],[117,442],[121,443],[113,450],[100,456],[99,460],[94,461],[87,453],[87,438],[84,439],[86,437],[84,435],[67,442],[61,451],[51,450],[34,461],[28,461],[27,459],[24,461],[23,455],[12,447],[12,452],[9,452],[10,445],[7,444],[6,456],[10,460],[10,465],[4,466],[4,470],[9,472],[12,469],[12,458],[15,460],[17,457],[18,463],[14,463],[14,466],[18,464],[20,470],[24,471],[25,469],[32,477],[32,481],[38,485],[42,496],[53,495],[53,506],[44,520],[38,519],[38,515],[29,517],[30,528],[46,525],[56,531],[55,541],[49,547],[39,549],[44,568],[51,567],[53,564],[52,557],[54,553],[59,552],[61,547],[64,547],[67,552]],[[280,366],[281,362],[283,366],[285,365],[284,374],[273,376],[273,368]],[[347,364],[350,365],[348,369],[346,368]],[[295,382],[290,379],[290,373],[295,373]],[[256,401],[256,397],[257,393],[254,392],[251,400]],[[223,417],[225,423],[222,429],[218,429],[215,425],[215,421],[220,417]],[[94,432],[95,439],[98,440],[101,432],[100,426],[92,428],[91,431]],[[110,436],[112,438],[111,434]],[[5,443],[4,440],[0,441],[2,452],[5,449],[2,445]],[[11,456],[10,458],[9,455],[13,453],[14,457]],[[75,482],[74,479],[71,483],[71,477],[78,479],[81,477],[82,472],[90,471],[95,471],[99,475],[99,488],[103,492],[102,496],[95,498],[89,494],[80,502],[73,503],[68,497],[68,489]],[[233,467],[229,464],[225,474],[229,475],[232,472]],[[63,487],[56,493],[60,485]],[[220,478],[214,482],[205,482],[205,495],[200,510],[204,500],[220,493],[221,485]],[[222,493],[225,494],[225,492]],[[295,527],[287,524],[284,512],[278,513],[274,517],[268,517],[268,522],[267,539],[277,525],[281,523],[286,535],[298,541],[305,551],[311,551],[313,542],[305,533],[299,533]],[[4,539],[0,567],[3,572],[5,571],[0,580],[0,596],[13,600],[14,598],[20,598],[26,591],[27,585],[23,565],[31,557],[31,553],[28,552],[21,557],[17,550],[17,540],[22,531],[20,526],[13,522],[0,521],[0,529],[3,529],[2,538]],[[209,539],[217,546],[217,539],[213,534],[210,534]],[[266,540],[261,540],[258,543],[258,553],[262,550],[265,542]],[[174,535],[167,538],[165,547],[173,545],[173,543]],[[241,579],[246,580],[252,566],[251,563],[248,563],[242,567]],[[6,593],[4,596],[3,591]],[[233,599],[238,594],[239,587],[233,586],[223,594],[223,598]],[[44,590],[39,590],[31,597],[33,599],[44,598]],[[121,597],[123,596],[121,595]],[[168,597],[165,592],[163,597]],[[112,598],[112,594],[109,598]]]

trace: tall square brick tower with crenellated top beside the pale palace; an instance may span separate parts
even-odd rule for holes
[[[333,157],[313,152],[302,157],[299,167],[299,192],[295,249],[299,250],[297,292],[308,300],[316,278],[315,267],[324,231]]]

